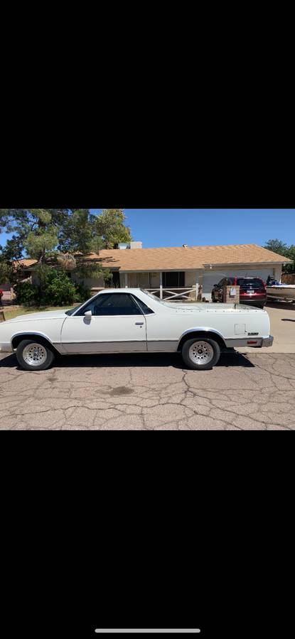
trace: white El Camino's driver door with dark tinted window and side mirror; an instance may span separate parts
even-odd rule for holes
[[[100,293],[67,317],[61,343],[69,354],[143,352],[146,318],[129,293]]]

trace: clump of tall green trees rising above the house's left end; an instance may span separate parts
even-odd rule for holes
[[[0,209],[0,228],[14,234],[4,248],[6,260],[35,258],[40,266],[38,278],[45,281],[48,258],[58,261],[58,253],[72,253],[75,271],[82,278],[109,280],[109,270],[86,261],[85,256],[129,242],[131,233],[125,219],[123,209],[104,209],[99,215],[89,209]],[[66,261],[60,261],[59,268],[68,270]]]

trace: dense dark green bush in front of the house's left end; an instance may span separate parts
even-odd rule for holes
[[[71,305],[85,302],[90,297],[90,291],[84,285],[73,283],[65,271],[53,269],[43,273],[42,284],[18,283],[14,290],[16,303],[26,306]]]

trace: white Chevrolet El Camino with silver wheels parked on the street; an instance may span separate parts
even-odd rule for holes
[[[41,371],[55,354],[176,353],[212,368],[220,349],[272,346],[267,312],[235,304],[163,302],[139,288],[103,290],[74,310],[21,315],[0,324],[0,352]]]

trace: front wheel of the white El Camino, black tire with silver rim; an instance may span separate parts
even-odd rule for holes
[[[35,347],[34,347],[35,345]],[[31,348],[30,348],[31,346]],[[18,344],[16,359],[25,371],[45,371],[53,363],[55,354],[50,346],[41,339],[23,339]],[[31,364],[30,364],[31,359]],[[35,363],[33,363],[35,361]]]

